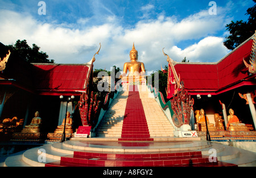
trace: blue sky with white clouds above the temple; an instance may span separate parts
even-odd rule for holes
[[[164,52],[175,61],[217,62],[229,50],[222,44],[226,24],[247,20],[252,0],[210,1],[46,0],[46,15],[39,1],[0,0],[0,42],[9,45],[26,39],[39,45],[56,63],[85,63],[96,56],[94,68],[122,69],[135,43],[139,61],[148,71],[167,65]]]

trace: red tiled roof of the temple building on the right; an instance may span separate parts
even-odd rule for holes
[[[180,79],[184,81],[185,89],[194,94],[196,92],[217,94],[231,90],[234,86],[238,87],[239,84],[241,86],[242,82],[249,85],[256,84],[242,81],[249,77],[243,58],[249,61],[252,44],[253,40],[246,41],[217,63],[176,63],[174,66],[176,73],[180,74]]]

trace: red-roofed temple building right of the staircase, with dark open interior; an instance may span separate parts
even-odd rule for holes
[[[240,122],[245,123],[250,130],[255,130],[255,44],[254,35],[218,62],[170,60],[167,99],[172,99],[183,85],[195,101],[195,117],[196,111],[204,109],[209,123],[216,125],[214,114],[218,114],[226,130],[229,109],[233,109]]]

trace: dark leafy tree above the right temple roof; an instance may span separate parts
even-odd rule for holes
[[[256,3],[256,0],[253,1]],[[245,15],[249,15],[247,22],[237,20],[237,22],[232,21],[230,24],[226,25],[226,29],[230,33],[229,36],[226,36],[226,40],[224,41],[226,48],[233,50],[243,43],[243,41],[253,36],[256,29],[256,5],[247,9]]]

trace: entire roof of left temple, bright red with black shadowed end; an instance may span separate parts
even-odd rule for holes
[[[8,48],[0,43],[0,57]],[[0,85],[12,85],[39,95],[80,95],[85,91],[92,65],[28,63],[11,54],[6,69],[0,72]]]

